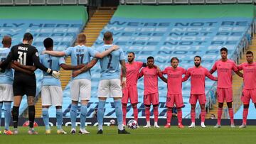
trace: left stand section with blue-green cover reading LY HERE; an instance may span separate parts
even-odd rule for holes
[[[39,52],[44,50],[43,40],[47,37],[55,41],[55,50],[65,50],[73,45],[76,35],[87,21],[84,6],[11,6],[1,7],[0,13],[8,13],[0,15],[0,36],[10,35],[13,38],[13,45],[16,45],[22,42],[24,33],[33,33],[33,45]],[[42,78],[42,72],[37,70],[37,96],[40,96]],[[23,114],[26,108],[26,96],[23,96],[20,114]],[[36,113],[41,116],[41,106],[38,108]]]

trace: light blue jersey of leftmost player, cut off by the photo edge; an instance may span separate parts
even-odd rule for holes
[[[6,60],[7,55],[10,52],[10,48],[0,48],[0,60],[3,62]],[[0,84],[13,84],[14,75],[12,69],[6,69],[5,72],[0,72]]]

